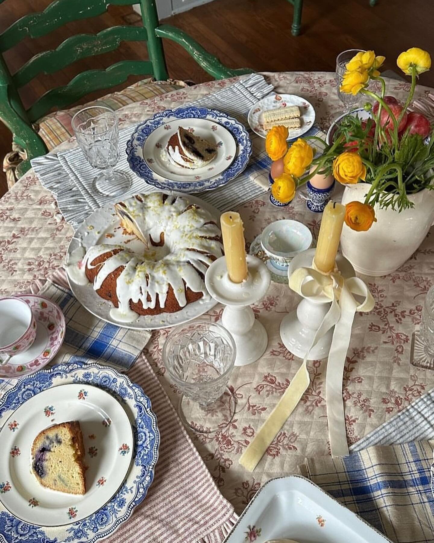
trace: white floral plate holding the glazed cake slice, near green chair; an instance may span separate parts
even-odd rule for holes
[[[189,169],[170,162],[167,143],[180,126],[216,145],[217,155],[206,166]],[[231,132],[208,119],[174,119],[156,128],[143,145],[143,157],[152,172],[181,182],[201,181],[221,174],[231,166],[236,153],[237,144]]]

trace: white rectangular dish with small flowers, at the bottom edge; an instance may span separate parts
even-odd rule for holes
[[[258,490],[224,543],[391,543],[359,516],[299,475],[270,479]]]

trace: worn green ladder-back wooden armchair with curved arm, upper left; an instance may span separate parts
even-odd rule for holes
[[[4,0],[0,0],[2,4]],[[108,5],[139,4],[143,26],[117,26],[99,34],[78,34],[63,41],[55,50],[39,53],[11,74],[3,53],[26,37],[48,34],[63,24],[104,14]],[[84,25],[85,27],[85,25]],[[30,159],[47,153],[47,147],[33,124],[53,108],[65,108],[86,94],[124,83],[129,75],[153,75],[168,79],[162,38],[178,43],[215,79],[251,73],[240,68],[231,70],[184,31],[168,24],[159,24],[155,0],[55,0],[40,13],[25,15],[0,34],[0,119],[12,132],[15,146],[25,151],[25,160],[17,166],[23,175],[30,168]],[[27,110],[18,89],[40,73],[52,74],[72,62],[119,47],[121,41],[146,41],[149,60],[124,60],[106,70],[88,70],[76,75],[66,86],[47,91]]]

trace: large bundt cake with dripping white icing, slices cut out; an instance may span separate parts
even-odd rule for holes
[[[117,308],[113,319],[173,313],[209,297],[205,273],[222,256],[223,245],[207,210],[161,192],[137,194],[114,209],[126,232],[144,243],[143,252],[101,244],[88,249],[82,261],[94,290]]]

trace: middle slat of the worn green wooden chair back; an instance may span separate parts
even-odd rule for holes
[[[12,75],[17,87],[29,83],[37,74],[51,74],[87,56],[100,55],[117,49],[121,41],[146,41],[144,27],[112,27],[98,34],[77,34],[68,37],[58,48],[33,56]]]

